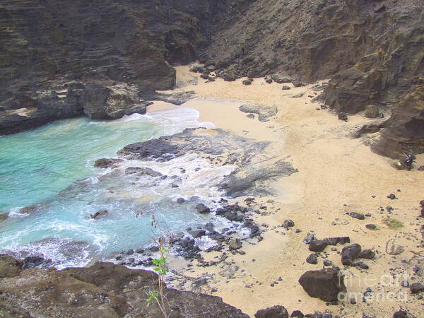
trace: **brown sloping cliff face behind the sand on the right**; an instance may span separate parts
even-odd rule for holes
[[[423,152],[420,129],[408,124],[424,110],[423,93],[414,88],[424,76],[421,1],[251,2],[213,35],[207,64],[235,77],[279,72],[307,83],[329,78],[322,99],[336,112],[356,114],[367,105],[393,112],[375,151],[392,157]],[[404,99],[412,91],[414,107]]]

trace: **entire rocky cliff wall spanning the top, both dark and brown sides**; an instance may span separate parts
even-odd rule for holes
[[[119,96],[130,84],[105,118],[131,113],[146,86],[175,84],[170,64],[199,59],[224,78],[331,79],[322,98],[337,112],[394,112],[377,152],[417,151],[390,126],[424,76],[423,25],[416,0],[1,1],[0,134],[90,114],[92,83]]]

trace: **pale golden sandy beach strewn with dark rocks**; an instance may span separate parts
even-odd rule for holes
[[[244,255],[230,254],[229,259],[239,266],[235,278],[221,276],[220,266],[194,266],[184,275],[210,278],[208,286],[196,291],[218,295],[252,317],[257,310],[273,305],[283,305],[289,313],[331,310],[342,317],[391,317],[402,307],[423,317],[423,300],[399,284],[406,271],[410,283],[422,280],[411,269],[424,259],[420,245],[420,227],[424,223],[423,218],[418,218],[419,202],[424,199],[424,172],[395,170],[394,160],[372,153],[367,145],[379,133],[353,139],[353,132],[372,119],[355,115],[343,122],[329,110],[317,110],[320,104],[311,102],[311,97],[319,92],[312,90],[313,85],[293,88],[290,83],[292,89],[281,90],[281,84],[265,83],[264,78],[255,78],[250,86],[242,85],[243,78],[234,82],[217,78],[205,83],[199,74],[188,70],[188,66],[177,67],[177,88],[172,92],[194,90],[197,97],[184,106],[198,110],[200,122],[212,122],[217,128],[257,141],[271,141],[270,150],[264,155],[285,158],[298,169],[290,177],[275,180],[276,197],[257,198],[256,208],[266,206],[266,213],[254,216],[262,225],[264,240],[256,245],[244,244]],[[240,112],[238,107],[245,102],[276,105],[278,113],[268,122],[260,122],[257,116],[252,119]],[[424,165],[424,157],[418,156],[417,162],[418,166]],[[388,199],[389,194],[398,199]],[[234,201],[243,204],[243,199]],[[387,206],[393,208],[390,214]],[[348,216],[351,212],[370,216],[358,220]],[[389,228],[384,224],[388,215],[404,226]],[[281,228],[284,220],[293,220],[295,227]],[[365,227],[370,223],[377,225],[377,230]],[[351,243],[375,250],[375,259],[365,260],[370,269],[347,269],[346,277],[351,277],[345,278],[345,283],[349,293],[364,293],[370,287],[372,293],[386,299],[359,299],[355,305],[345,302],[328,306],[310,298],[298,283],[302,273],[322,269],[324,259],[341,269],[344,266],[338,254],[342,245],[337,245],[336,251],[327,247],[317,265],[307,264],[305,259],[311,252],[302,240],[308,232],[319,239],[349,236]],[[387,254],[388,241],[402,246],[404,252]],[[212,260],[216,255],[208,253],[204,258]],[[180,264],[180,269],[187,269],[185,265]],[[366,277],[374,277],[372,283],[365,283]],[[276,283],[271,286],[273,282]],[[387,300],[389,293],[394,293],[394,297]]]

